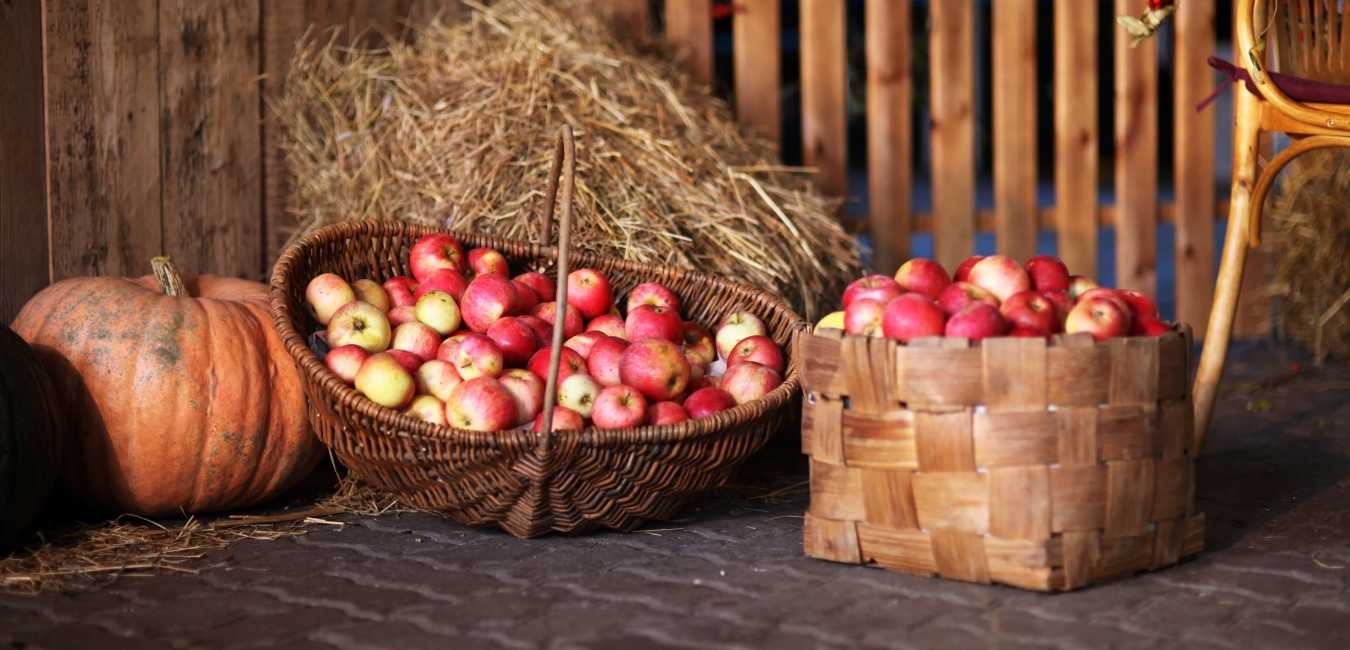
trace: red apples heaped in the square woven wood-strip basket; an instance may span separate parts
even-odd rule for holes
[[[1168,324],[1143,293],[1098,286],[1071,276],[1062,261],[1038,255],[1026,265],[1004,255],[973,255],[953,276],[942,265],[914,258],[895,277],[867,276],[844,291],[844,311],[817,328],[909,343],[921,336],[1049,336],[1087,332],[1160,336]]]

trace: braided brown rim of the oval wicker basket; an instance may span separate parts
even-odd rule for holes
[[[271,280],[269,285],[269,303],[273,315],[273,327],[281,336],[282,343],[286,346],[286,351],[290,353],[292,359],[300,366],[301,372],[313,381],[320,391],[336,401],[354,408],[360,415],[374,420],[369,428],[377,431],[397,431],[397,435],[412,435],[420,438],[428,438],[433,441],[451,442],[458,445],[468,445],[475,447],[493,447],[504,450],[516,450],[522,447],[533,447],[537,445],[539,436],[545,434],[535,434],[529,431],[528,427],[520,426],[505,431],[470,431],[464,428],[456,428],[451,426],[436,426],[420,419],[404,415],[400,411],[394,411],[387,407],[382,407],[370,401],[355,388],[348,386],[342,381],[328,366],[319,361],[319,357],[309,350],[305,338],[296,331],[293,326],[293,314],[290,304],[286,299],[290,281],[292,281],[292,268],[297,264],[302,255],[306,255],[310,249],[331,241],[350,239],[358,236],[423,236],[432,232],[448,232],[460,241],[473,241],[483,246],[491,246],[495,249],[510,249],[513,257],[533,257],[540,259],[556,259],[558,249],[555,246],[540,246],[537,243],[522,242],[518,239],[509,239],[495,235],[485,235],[475,232],[464,232],[459,230],[437,228],[432,226],[412,224],[405,222],[377,222],[377,220],[350,220],[325,226],[323,228],[315,230],[298,241],[292,243],[282,254],[277,258],[277,264],[273,266]],[[792,320],[792,336],[801,334],[803,328],[809,327],[791,307],[788,307],[780,297],[774,296],[763,289],[732,282],[722,280],[716,276],[703,274],[699,272],[678,269],[672,266],[657,266],[649,264],[630,262],[626,259],[618,259],[605,255],[595,255],[591,253],[572,251],[574,268],[591,266],[601,261],[613,268],[620,268],[628,272],[649,273],[653,268],[662,268],[672,273],[695,276],[702,281],[706,281],[716,286],[718,291],[745,293],[747,300],[751,299],[764,303],[768,308],[779,309],[791,316]],[[809,331],[809,330],[805,330]],[[792,345],[791,341],[787,343]],[[684,441],[695,441],[699,438],[717,435],[728,428],[733,428],[741,424],[748,424],[763,415],[778,411],[791,403],[794,396],[801,388],[799,378],[801,359],[792,355],[791,362],[783,376],[783,382],[778,388],[771,391],[760,400],[749,401],[745,404],[737,404],[734,408],[713,414],[711,416],[705,416],[699,419],[684,420],[676,424],[666,426],[639,426],[639,427],[625,427],[625,428],[595,428],[586,427],[582,430],[563,430],[554,431],[552,439],[556,442],[571,442],[583,447],[608,447],[608,446],[622,446],[622,445],[652,445],[652,443],[675,443]]]

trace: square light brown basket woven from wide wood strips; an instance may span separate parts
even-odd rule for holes
[[[798,346],[809,555],[1066,591],[1204,543],[1188,330]]]

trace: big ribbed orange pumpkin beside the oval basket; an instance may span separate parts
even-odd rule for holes
[[[167,258],[153,265],[154,277],[57,282],[14,322],[69,419],[66,492],[146,516],[278,496],[315,468],[321,446],[267,288],[184,282]]]

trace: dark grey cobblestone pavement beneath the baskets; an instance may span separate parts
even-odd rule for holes
[[[1207,551],[1083,592],[807,559],[805,464],[779,443],[740,488],[645,532],[522,542],[347,518],[198,574],[0,596],[0,647],[1350,647],[1350,369],[1235,357],[1199,470]],[[756,499],[756,476],[795,489]]]

